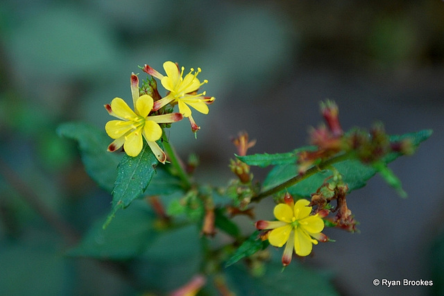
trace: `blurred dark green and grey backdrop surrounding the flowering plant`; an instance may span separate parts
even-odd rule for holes
[[[0,294],[126,295],[115,268],[63,252],[110,210],[110,195],[83,171],[75,143],[56,128],[102,128],[103,104],[130,102],[130,73],[166,60],[203,69],[216,97],[195,140],[187,121],[169,137],[200,156],[198,180],[231,177],[230,137],[246,130],[250,153],[282,153],[307,141],[318,102],[339,105],[345,130],[375,120],[389,134],[432,128],[413,157],[391,168],[407,200],[376,177],[348,204],[360,234],[327,229],[305,265],[333,272],[341,295],[441,293],[444,210],[443,1],[23,1],[0,4]],[[264,171],[253,171],[260,180]],[[39,202],[35,203],[35,200]],[[42,205],[44,207],[42,207]],[[42,207],[42,209],[39,209]],[[69,223],[53,229],[40,213]],[[271,211],[258,218],[272,218]],[[246,233],[253,225],[245,225]],[[440,243],[441,242],[441,243]],[[432,252],[431,252],[432,251]],[[297,277],[297,275],[293,275]],[[433,279],[386,288],[373,279]],[[441,283],[441,284],[440,284]]]

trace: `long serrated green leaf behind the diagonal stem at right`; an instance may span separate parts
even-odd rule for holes
[[[413,146],[418,146],[422,141],[425,141],[430,137],[431,134],[431,130],[421,130],[420,132],[391,136],[390,139],[391,141],[401,141],[402,139],[408,138],[411,139]],[[393,162],[393,160],[401,155],[401,153],[389,153],[384,159],[382,159],[382,163],[388,164],[389,162]],[[362,164],[357,159],[347,159],[343,162],[334,164],[333,166],[339,171],[339,173],[341,173],[341,175],[343,175],[343,181],[348,184],[350,191],[365,186],[367,181],[377,173],[377,169],[373,166]],[[266,180],[264,181],[263,191],[267,191],[278,184],[282,184],[292,177],[295,177],[297,173],[297,164],[275,166],[270,173],[268,173]],[[384,171],[384,173],[386,173],[386,177],[388,177],[387,171]],[[307,177],[307,179],[290,186],[286,190],[293,195],[300,195],[308,198],[311,193],[316,192],[319,186],[321,186],[324,180],[327,177],[330,177],[330,175],[332,175],[332,173],[328,170],[320,171],[319,173],[316,173],[316,175]],[[394,182],[394,179],[392,179],[391,182],[393,182],[393,184],[396,183]]]

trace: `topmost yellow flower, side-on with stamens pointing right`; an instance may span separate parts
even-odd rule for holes
[[[205,96],[205,92],[200,94],[197,93],[199,87],[207,83],[208,80],[203,80],[203,82],[198,80],[197,76],[201,71],[200,68],[194,73],[194,69],[191,68],[189,73],[185,75],[185,77],[182,77],[185,67],[182,67],[181,71],[179,71],[178,65],[170,61],[164,62],[164,70],[165,73],[167,73],[167,76],[162,75],[147,64],[144,67],[146,73],[160,79],[163,87],[169,91],[167,96],[154,103],[153,110],[159,110],[168,103],[177,103],[179,106],[179,112],[189,119],[193,131],[198,130],[199,127],[194,122],[189,107],[193,107],[200,113],[208,114],[209,110],[207,104],[212,103],[214,97]]]

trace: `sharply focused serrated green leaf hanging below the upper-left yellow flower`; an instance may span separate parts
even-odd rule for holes
[[[160,141],[158,141],[161,145]],[[133,200],[140,198],[150,184],[157,166],[157,158],[144,142],[142,151],[136,157],[123,155],[117,166],[117,180],[112,190],[112,209],[103,227],[107,227],[117,210],[128,207]]]

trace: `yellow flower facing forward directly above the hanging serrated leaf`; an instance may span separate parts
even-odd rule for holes
[[[105,125],[108,136],[115,139],[108,151],[114,152],[123,146],[126,154],[135,157],[142,150],[143,136],[155,157],[164,164],[167,157],[155,142],[162,137],[159,123],[180,121],[183,116],[180,113],[148,116],[153,110],[153,98],[147,94],[139,96],[139,78],[134,73],[131,75],[131,94],[134,111],[121,98],[114,98],[111,104],[105,105],[110,115],[121,119],[108,121]]]

